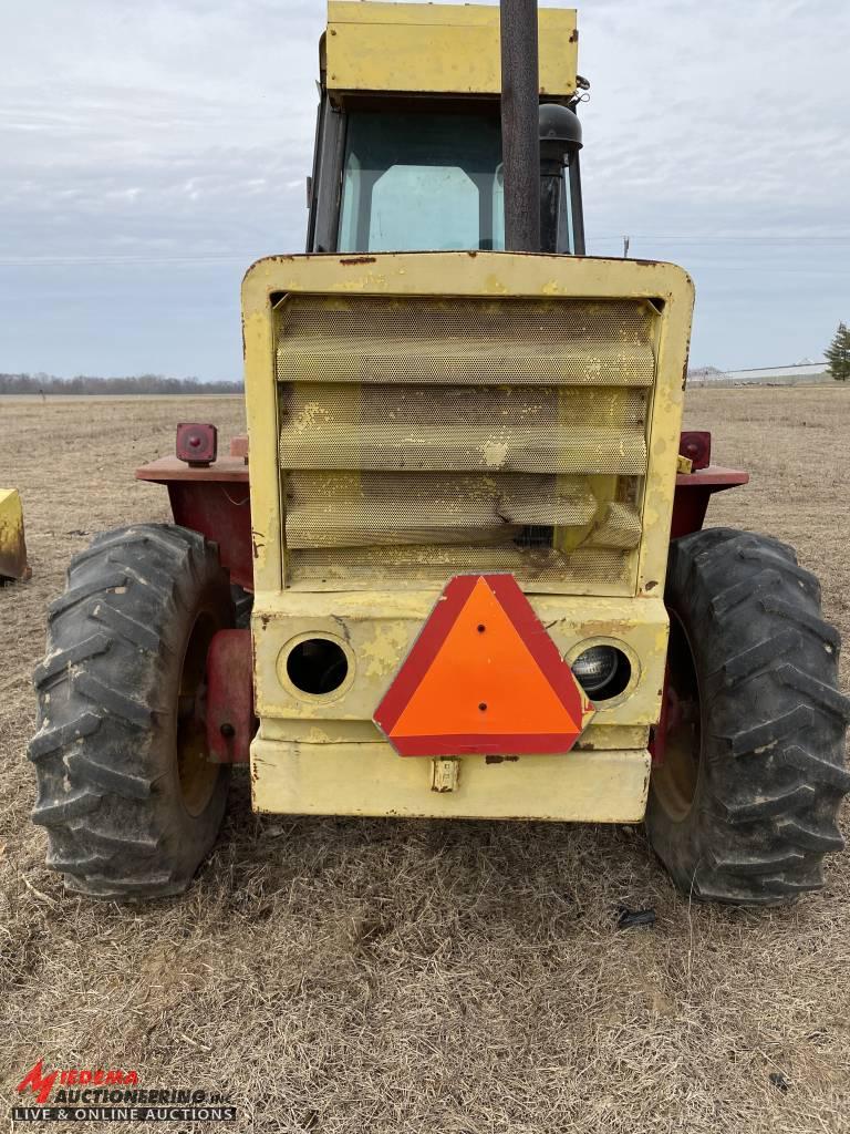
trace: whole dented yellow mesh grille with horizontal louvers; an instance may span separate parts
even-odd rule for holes
[[[630,592],[657,318],[621,301],[288,297],[288,582],[488,569]]]

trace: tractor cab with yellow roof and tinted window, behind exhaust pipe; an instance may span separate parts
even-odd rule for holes
[[[403,8],[329,5],[307,252],[503,251],[499,9]],[[539,29],[541,247],[584,253],[576,14]]]

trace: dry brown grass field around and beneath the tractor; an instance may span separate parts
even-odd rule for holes
[[[134,466],[210,417],[241,404],[0,399],[34,570],[0,591],[0,1125],[44,1057],[227,1091],[239,1131],[850,1131],[848,854],[791,908],[690,907],[639,828],[261,820],[237,775],[186,896],[63,892],[24,755],[44,607],[94,532],[167,518]],[[753,472],[711,523],[794,543],[850,640],[850,389],[698,390],[688,424]]]

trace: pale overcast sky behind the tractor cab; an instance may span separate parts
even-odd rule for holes
[[[550,5],[554,6],[554,5]],[[238,376],[299,252],[322,0],[0,0],[0,372]],[[697,284],[691,362],[850,322],[850,2],[587,0],[588,252]]]

